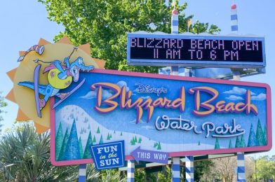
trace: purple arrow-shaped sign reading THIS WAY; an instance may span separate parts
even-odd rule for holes
[[[137,147],[135,151],[131,152],[130,155],[132,155],[137,162],[141,160],[168,164],[168,153],[142,150],[140,149],[140,146]]]

